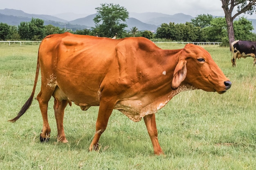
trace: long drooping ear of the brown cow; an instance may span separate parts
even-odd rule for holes
[[[186,60],[180,60],[173,73],[171,88],[177,89],[186,78]]]

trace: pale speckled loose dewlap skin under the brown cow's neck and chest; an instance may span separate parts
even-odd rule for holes
[[[166,96],[155,97],[155,100],[148,99],[148,96],[140,98],[128,98],[117,102],[115,109],[124,113],[132,121],[140,121],[142,117],[156,113],[163,108],[175,95],[182,91],[198,89],[190,84],[180,85],[175,91],[171,91]]]

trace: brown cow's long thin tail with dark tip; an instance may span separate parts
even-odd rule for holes
[[[36,91],[36,83],[38,80],[38,75],[39,75],[39,69],[40,69],[40,64],[39,64],[39,50],[38,50],[38,57],[37,57],[37,66],[36,66],[36,77],[35,77],[35,82],[34,82],[34,87],[33,87],[33,91],[29,97],[29,99],[27,99],[27,102],[22,106],[20,112],[18,113],[18,115],[16,117],[14,117],[11,120],[8,120],[10,122],[15,122],[16,120],[18,120],[26,111],[27,109],[31,106],[33,98],[34,98],[34,94]]]

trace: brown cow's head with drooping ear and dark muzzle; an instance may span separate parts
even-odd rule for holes
[[[225,93],[231,82],[202,47],[186,44],[182,49],[172,80],[172,88],[189,83],[204,91]]]

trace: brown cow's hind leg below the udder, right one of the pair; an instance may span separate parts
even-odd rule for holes
[[[58,141],[62,143],[67,143],[67,139],[65,137],[64,127],[63,127],[63,117],[64,110],[67,106],[67,100],[59,101],[54,98],[54,115],[56,119],[57,129],[58,129]]]

